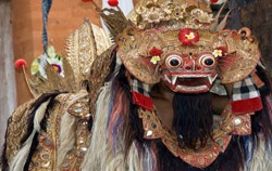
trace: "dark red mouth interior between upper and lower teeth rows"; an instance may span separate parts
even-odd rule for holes
[[[186,87],[199,87],[208,83],[207,78],[178,78],[177,84]]]

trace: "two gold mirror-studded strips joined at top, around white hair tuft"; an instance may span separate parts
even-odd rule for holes
[[[29,170],[57,170],[58,148],[60,147],[60,123],[61,118],[67,111],[71,111],[70,114],[76,118],[75,144],[74,148],[65,156],[60,170],[79,170],[85,153],[89,146],[88,140],[90,131],[88,121],[90,115],[88,103],[88,95],[86,92],[61,94],[57,96],[54,106],[47,118],[47,128],[38,135],[39,144],[33,156]],[[79,110],[75,113],[73,109],[78,109],[79,106],[82,107],[81,113]]]

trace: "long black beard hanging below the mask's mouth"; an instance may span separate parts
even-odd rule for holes
[[[173,130],[181,147],[198,149],[212,139],[212,107],[210,93],[181,94],[173,98]]]

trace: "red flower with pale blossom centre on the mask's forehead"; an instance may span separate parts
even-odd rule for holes
[[[190,36],[193,36],[193,38],[189,38]],[[199,41],[199,35],[189,28],[183,28],[180,30],[178,39],[183,45],[191,45],[193,42]]]

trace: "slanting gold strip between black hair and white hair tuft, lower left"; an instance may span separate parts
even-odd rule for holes
[[[61,94],[55,97],[55,103],[47,118],[47,128],[38,135],[38,146],[32,158],[28,170],[51,171],[57,170],[57,149],[59,147],[60,122],[67,106],[70,94]]]

